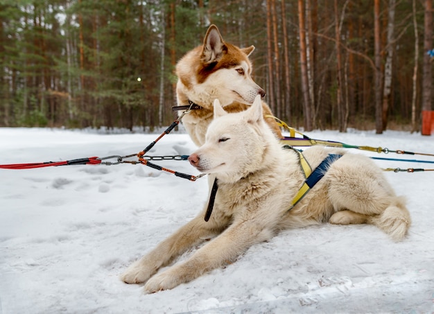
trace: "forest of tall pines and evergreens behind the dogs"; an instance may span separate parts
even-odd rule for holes
[[[433,0],[0,0],[0,126],[173,121],[173,69],[216,24],[304,130],[417,131],[433,99]]]

